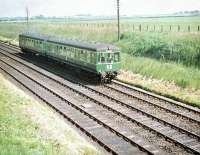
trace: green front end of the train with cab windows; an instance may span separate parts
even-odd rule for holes
[[[97,54],[97,71],[102,82],[110,82],[120,70],[120,50],[118,48],[106,48]]]

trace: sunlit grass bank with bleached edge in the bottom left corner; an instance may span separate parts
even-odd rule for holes
[[[26,96],[0,74],[0,154],[100,153],[49,107]]]

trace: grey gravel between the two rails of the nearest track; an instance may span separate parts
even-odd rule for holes
[[[31,88],[34,92],[37,92],[37,94],[42,95],[42,97],[51,102],[52,106],[61,109],[61,112],[65,113],[66,115],[69,115],[75,122],[80,124],[83,128],[91,128],[94,126],[98,126],[97,130],[88,129],[90,133],[95,135],[97,138],[103,140],[107,145],[109,145],[113,150],[115,150],[118,154],[146,154],[142,151],[140,151],[137,147],[133,147],[130,143],[124,141],[122,138],[116,136],[114,133],[110,132],[108,129],[104,128],[103,126],[97,124],[92,119],[90,119],[88,116],[80,113],[76,109],[72,108],[64,102],[62,99],[56,97],[52,93],[48,92],[44,88],[37,85],[32,80],[28,79],[27,77],[19,74],[14,69],[11,69],[10,67],[2,64],[0,62],[0,66],[4,68],[6,71],[12,73],[15,75],[15,77],[26,83],[26,85]],[[90,125],[89,125],[90,124]],[[109,138],[110,137],[110,138]],[[113,143],[112,142],[117,142]]]

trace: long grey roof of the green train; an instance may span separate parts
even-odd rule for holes
[[[83,42],[83,41],[78,41],[78,40],[64,39],[64,38],[58,38],[54,36],[40,35],[40,34],[33,34],[33,33],[23,33],[20,35],[29,37],[29,38],[44,40],[48,42],[54,42],[54,43],[64,44],[64,45],[73,46],[77,48],[92,50],[92,51],[100,51],[100,50],[107,50],[107,49],[119,50],[118,47],[111,44],[90,43],[90,42]]]

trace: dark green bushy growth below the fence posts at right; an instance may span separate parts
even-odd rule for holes
[[[132,56],[200,67],[200,34],[125,33],[118,45]]]

